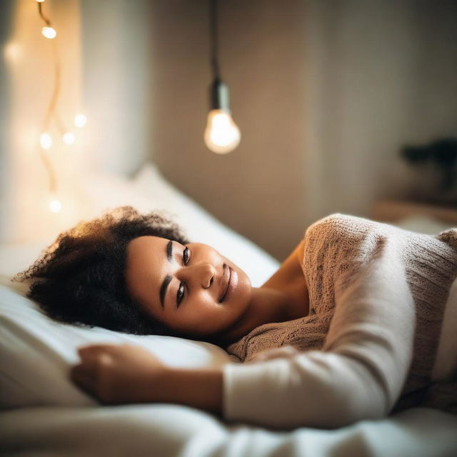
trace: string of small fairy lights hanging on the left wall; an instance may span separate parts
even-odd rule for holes
[[[56,29],[49,17],[44,15],[43,4],[45,0],[36,0],[38,4],[39,16],[44,21],[44,26],[41,28],[41,34],[51,40],[52,55],[54,59],[54,87],[49,100],[48,108],[46,110],[46,116],[44,117],[42,133],[40,135],[39,144],[40,156],[43,161],[44,167],[49,177],[49,210],[53,213],[58,213],[62,209],[62,203],[59,199],[57,192],[57,179],[56,172],[52,166],[51,159],[49,157],[49,150],[54,146],[54,139],[51,136],[51,128],[54,124],[54,128],[59,132],[61,140],[67,146],[71,146],[76,141],[76,135],[71,129],[66,128],[64,122],[61,121],[61,117],[57,112],[56,106],[59,101],[60,89],[61,89],[61,66],[59,61],[59,54],[56,49],[55,38],[57,36]],[[84,127],[87,122],[87,117],[84,114],[76,114],[74,117],[74,126],[77,128]]]

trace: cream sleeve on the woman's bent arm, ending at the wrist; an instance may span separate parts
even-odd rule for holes
[[[227,421],[336,428],[388,414],[411,363],[414,304],[395,240],[379,238],[373,252],[350,286],[336,287],[323,351],[224,366]]]

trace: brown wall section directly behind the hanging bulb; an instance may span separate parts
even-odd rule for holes
[[[156,2],[154,157],[171,181],[278,258],[305,224],[303,2],[220,1],[219,60],[238,149],[206,149],[208,2]],[[291,217],[291,215],[293,215]]]

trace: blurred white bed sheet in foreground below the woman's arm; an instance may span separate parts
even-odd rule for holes
[[[416,408],[334,431],[278,432],[178,405],[31,408],[4,413],[2,451],[10,456],[452,457],[457,418]]]

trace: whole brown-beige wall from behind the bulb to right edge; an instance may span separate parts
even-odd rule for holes
[[[207,2],[154,2],[154,156],[164,174],[277,258],[332,212],[406,194],[403,144],[457,131],[455,1],[231,0],[221,72],[241,144],[204,146]]]

